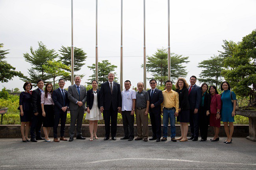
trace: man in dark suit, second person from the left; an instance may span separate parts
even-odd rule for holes
[[[41,107],[41,94],[44,92],[43,80],[37,81],[37,89],[32,91],[32,122],[30,126],[31,142],[37,142],[37,140],[45,140],[41,137],[41,127],[43,124],[42,107]],[[36,137],[35,137],[36,133]]]

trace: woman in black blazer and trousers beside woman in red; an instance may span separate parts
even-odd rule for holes
[[[208,84],[203,83],[201,86],[202,89],[202,100],[199,107],[199,129],[201,139],[200,141],[206,141],[208,135],[208,125],[210,116],[210,105],[211,105],[211,95],[207,93],[208,91]]]

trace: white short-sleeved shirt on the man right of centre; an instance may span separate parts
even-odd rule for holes
[[[122,95],[122,111],[132,111],[132,99],[136,99],[136,91],[133,89],[123,90]]]

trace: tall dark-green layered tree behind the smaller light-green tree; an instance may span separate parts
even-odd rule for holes
[[[45,72],[43,65],[48,65],[49,60],[53,60],[58,57],[58,54],[54,49],[47,49],[43,42],[38,42],[39,48],[33,51],[30,47],[31,55],[28,53],[23,54],[25,60],[32,65],[32,68],[28,69],[29,77],[24,76],[21,80],[30,81],[35,86],[38,79],[46,81],[50,79],[50,75]]]

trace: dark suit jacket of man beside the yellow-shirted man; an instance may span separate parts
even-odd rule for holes
[[[148,90],[149,95],[149,113],[154,114],[161,114],[161,103],[163,102],[163,92],[161,90],[158,90],[157,88],[154,89],[154,95],[153,97],[150,97],[150,90]],[[154,104],[154,108],[151,108],[150,105]]]

